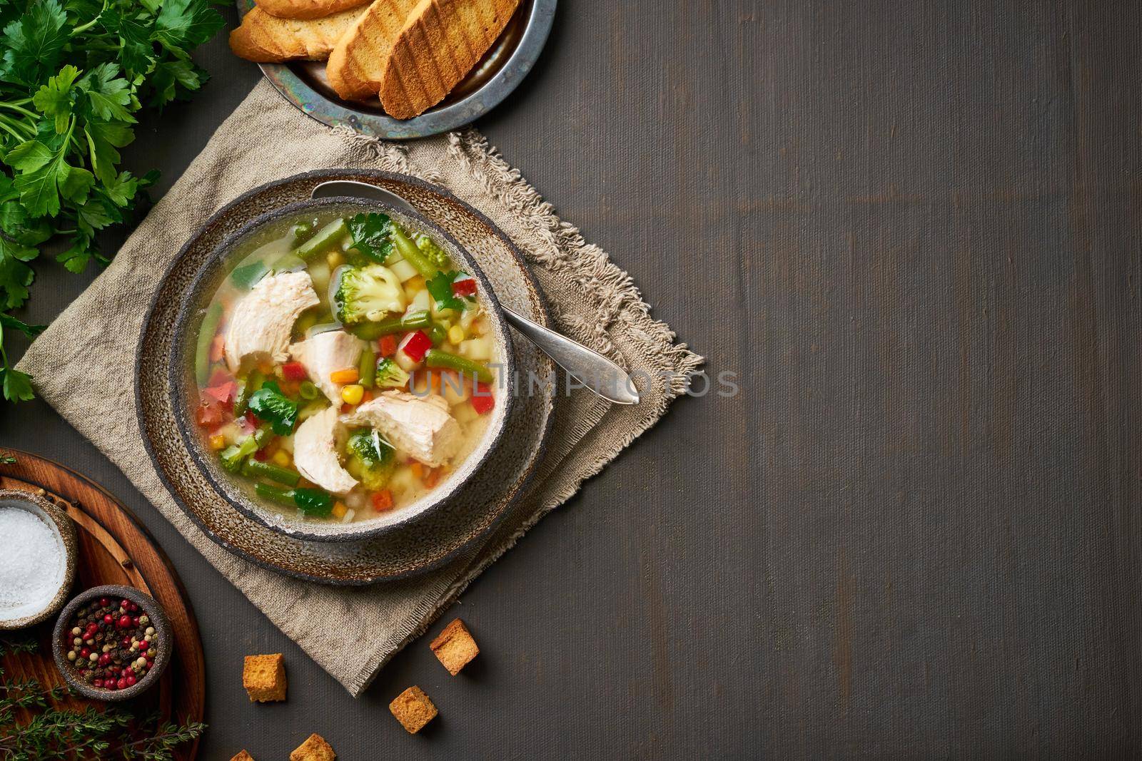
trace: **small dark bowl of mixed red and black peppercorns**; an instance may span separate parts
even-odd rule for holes
[[[56,666],[72,691],[95,701],[126,701],[150,689],[174,643],[154,598],[115,584],[72,599],[59,613],[53,641]]]

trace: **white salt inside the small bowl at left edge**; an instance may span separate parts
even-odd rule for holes
[[[55,526],[21,508],[0,504],[0,617],[35,615],[64,582],[64,543]]]

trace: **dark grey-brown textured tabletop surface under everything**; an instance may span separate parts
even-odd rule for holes
[[[46,405],[0,442],[174,558],[206,759],[1136,754],[1140,39],[1134,2],[561,3],[480,127],[742,392],[677,404],[472,586],[471,677],[421,640],[353,701]],[[130,151],[160,192],[258,78],[200,60]],[[41,264],[32,316],[86,282]],[[290,699],[251,706],[242,655],[278,650]],[[386,709],[411,683],[425,736]]]

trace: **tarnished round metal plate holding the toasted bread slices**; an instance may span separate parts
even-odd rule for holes
[[[244,14],[252,2],[239,0]],[[343,100],[325,78],[324,62],[259,64],[282,97],[303,113],[330,127],[361,135],[407,140],[463,127],[500,104],[526,76],[544,49],[555,19],[556,0],[521,0],[507,26],[484,57],[439,104],[413,119],[393,119],[380,100]]]

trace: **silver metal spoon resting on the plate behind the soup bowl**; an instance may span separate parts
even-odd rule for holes
[[[313,193],[314,199],[331,199],[339,196],[356,196],[370,201],[383,201],[416,213],[416,209],[401,196],[355,180],[329,180],[321,183]],[[523,315],[500,305],[507,321],[539,349],[555,361],[563,370],[598,396],[614,404],[638,404],[638,391],[635,390],[630,377],[598,351],[582,343],[572,341],[549,327],[532,322]]]

